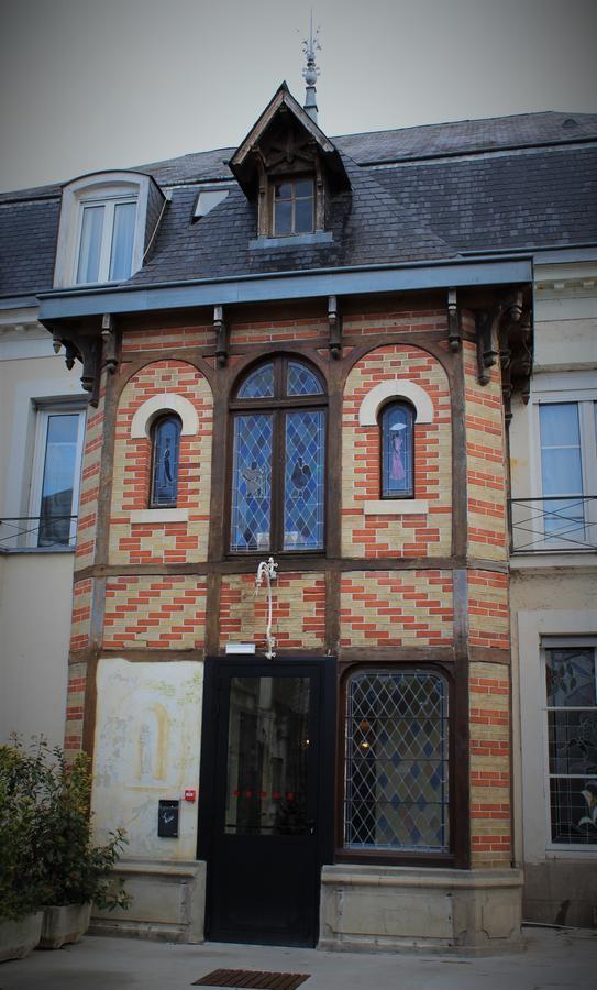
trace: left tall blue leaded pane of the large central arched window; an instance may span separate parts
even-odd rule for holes
[[[231,550],[269,550],[272,520],[272,435],[269,414],[234,419]]]

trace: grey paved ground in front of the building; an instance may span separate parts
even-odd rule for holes
[[[187,990],[215,969],[309,974],[305,990],[590,990],[597,986],[597,930],[527,927],[522,952],[484,958],[89,935],[1,964],[0,990]]]

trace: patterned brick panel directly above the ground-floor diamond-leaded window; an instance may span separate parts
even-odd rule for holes
[[[342,647],[450,646],[449,571],[351,571],[342,575]]]

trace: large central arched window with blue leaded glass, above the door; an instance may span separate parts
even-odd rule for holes
[[[319,376],[285,356],[261,364],[239,388],[232,552],[323,550],[324,403]]]

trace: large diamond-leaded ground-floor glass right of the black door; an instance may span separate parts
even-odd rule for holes
[[[371,671],[349,684],[344,842],[449,849],[447,689],[422,672]]]

